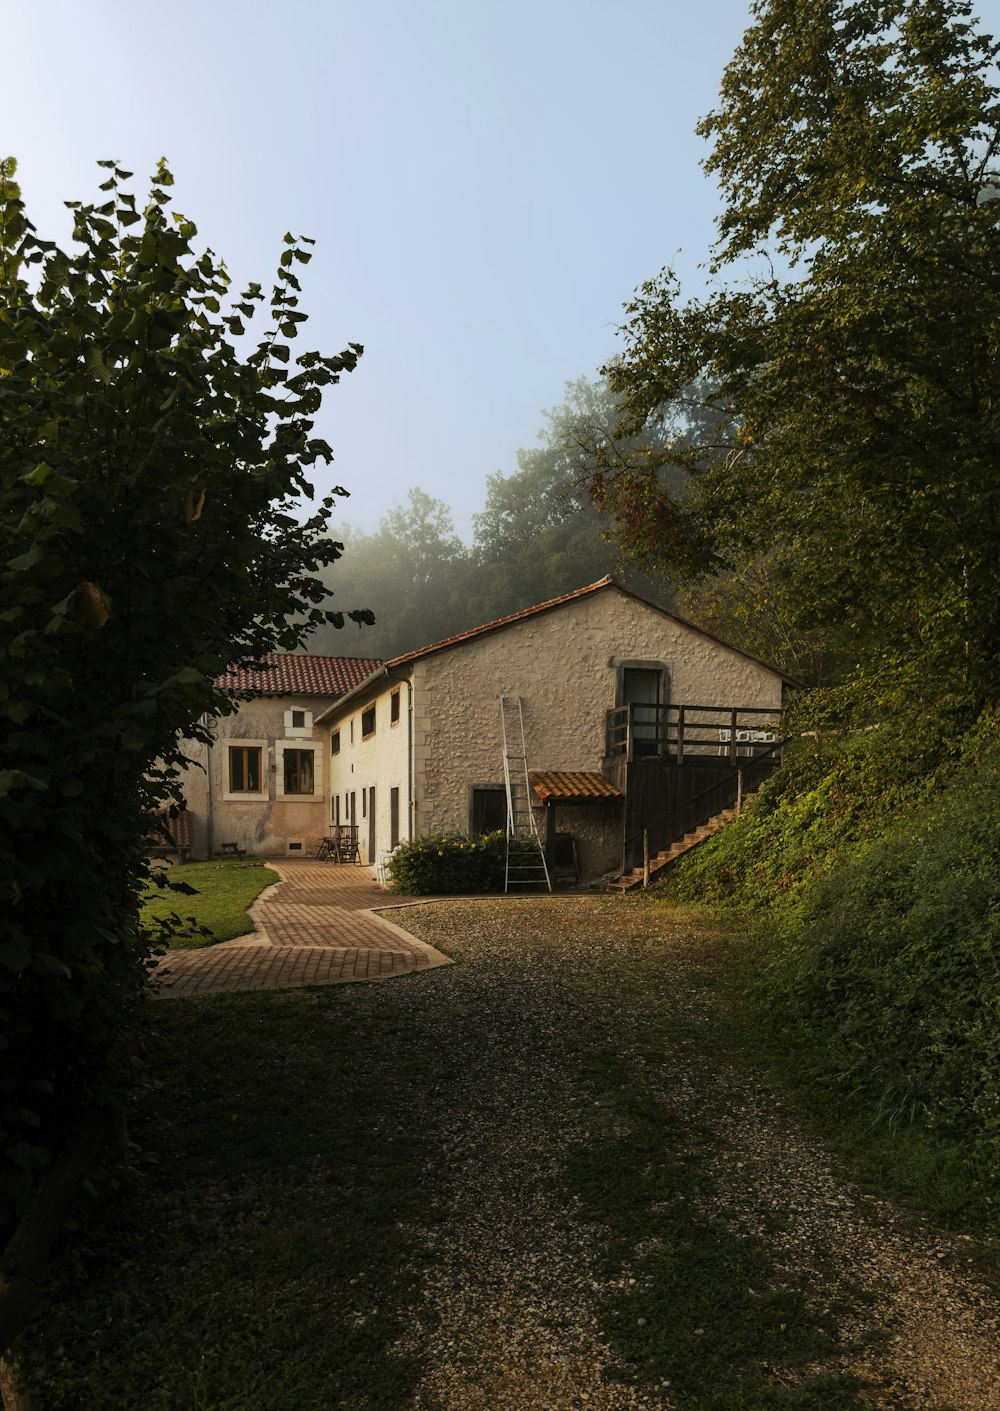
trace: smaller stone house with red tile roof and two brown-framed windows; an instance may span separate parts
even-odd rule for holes
[[[220,679],[247,693],[213,722],[212,745],[188,742],[182,789],[190,854],[307,856],[327,832],[329,729],[319,715],[382,663],[370,656],[275,652]]]

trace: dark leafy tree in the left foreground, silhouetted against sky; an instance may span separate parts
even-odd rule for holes
[[[320,581],[333,498],[292,511],[331,459],[322,395],[361,347],[292,358],[310,255],[285,236],[267,332],[237,351],[260,285],[223,308],[168,168],[138,212],[130,174],[100,165],[72,253],[0,174],[0,1239],[134,1081],[144,838],[179,737],[233,708],[223,667],[343,622]],[[0,1268],[0,1348],[25,1274]]]

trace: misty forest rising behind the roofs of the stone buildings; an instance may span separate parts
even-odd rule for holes
[[[450,507],[420,488],[389,509],[375,533],[331,528],[344,545],[329,577],[333,607],[371,608],[375,625],[320,628],[309,650],[396,656],[612,573],[793,676],[828,680],[842,665],[838,642],[829,631],[790,625],[794,604],[767,553],[739,567],[691,571],[685,556],[661,545],[643,552],[643,536],[606,492],[615,474],[638,471],[683,502],[684,446],[704,433],[704,388],[694,392],[638,435],[622,435],[621,398],[608,381],[568,382],[566,401],[543,413],[539,444],[518,452],[509,476],[488,477],[471,545],[454,532]]]

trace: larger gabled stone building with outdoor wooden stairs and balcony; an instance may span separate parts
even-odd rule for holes
[[[502,828],[506,697],[523,717],[539,831],[571,834],[595,878],[622,865],[630,797],[654,811],[677,779],[690,794],[774,738],[786,682],[602,579],[378,663],[317,713],[329,821],[357,824],[370,862],[402,838]]]

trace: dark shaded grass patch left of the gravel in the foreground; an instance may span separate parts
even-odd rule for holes
[[[405,1036],[343,992],[152,1007],[140,1187],[92,1212],[27,1370],[45,1411],[392,1411],[388,1311],[433,1201],[395,1110]],[[206,1081],[210,1074],[210,1081]],[[420,1256],[423,1257],[423,1256]]]

